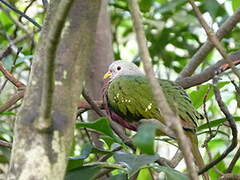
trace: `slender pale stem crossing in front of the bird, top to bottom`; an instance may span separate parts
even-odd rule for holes
[[[179,147],[182,150],[184,155],[189,177],[191,179],[198,179],[196,169],[194,168],[194,165],[193,165],[194,160],[193,160],[191,148],[189,146],[189,141],[183,132],[183,128],[180,124],[180,119],[170,109],[166,101],[166,98],[164,96],[164,93],[161,87],[159,86],[157,79],[154,76],[151,58],[147,48],[147,41],[146,41],[146,37],[143,30],[143,23],[140,15],[139,5],[137,3],[137,0],[129,0],[128,3],[130,6],[130,12],[132,14],[134,29],[137,36],[140,57],[143,61],[144,70],[146,72],[147,79],[150,82],[150,86],[153,91],[156,103],[159,109],[161,110],[161,114],[163,116],[164,122],[167,124],[167,126],[171,127],[176,134]]]

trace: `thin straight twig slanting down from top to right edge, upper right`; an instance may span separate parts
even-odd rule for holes
[[[223,59],[226,61],[226,63],[229,64],[231,67],[232,71],[236,74],[238,79],[240,80],[240,72],[238,69],[235,67],[233,62],[230,60],[229,56],[225,52],[225,49],[221,45],[220,41],[218,40],[217,36],[213,32],[213,30],[208,26],[207,22],[204,20],[202,13],[200,12],[199,8],[196,6],[193,0],[188,0],[189,3],[191,4],[193,10],[195,11],[195,14],[197,15],[197,18],[199,22],[201,23],[202,27],[204,28],[205,32],[207,33],[207,36],[209,40],[214,44],[214,46],[217,48],[219,53],[222,55]]]

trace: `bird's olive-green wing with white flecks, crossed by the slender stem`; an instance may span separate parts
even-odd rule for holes
[[[201,115],[195,110],[185,91],[171,81],[159,80],[159,83],[170,107],[183,120],[183,127],[194,129],[195,121]],[[120,76],[114,79],[108,88],[108,102],[113,111],[130,122],[150,118],[163,122],[144,76]]]

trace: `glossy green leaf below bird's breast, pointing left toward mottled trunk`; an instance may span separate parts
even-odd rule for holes
[[[111,137],[115,142],[122,144],[122,140],[112,131],[107,118],[99,118],[94,122],[80,122],[76,124],[77,128],[89,128],[96,130]]]

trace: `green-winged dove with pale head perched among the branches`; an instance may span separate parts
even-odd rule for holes
[[[103,79],[103,105],[113,121],[133,131],[137,131],[141,119],[156,119],[166,124],[145,74],[134,63],[127,60],[114,61],[109,65]],[[199,169],[203,168],[196,121],[204,117],[195,109],[181,86],[169,80],[158,79],[158,82],[170,108],[180,118],[185,135],[190,140],[196,165]],[[205,180],[209,179],[207,173],[203,177]]]

